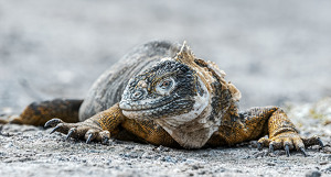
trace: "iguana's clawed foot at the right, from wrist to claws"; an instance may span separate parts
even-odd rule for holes
[[[309,147],[312,145],[320,145],[323,147],[323,143],[320,137],[312,136],[303,139],[296,132],[284,132],[271,139],[261,137],[258,140],[259,150],[261,150],[263,146],[269,146],[269,151],[274,153],[274,150],[284,148],[287,156],[290,156],[290,150],[293,150],[295,147],[297,151],[307,156],[305,146]]]

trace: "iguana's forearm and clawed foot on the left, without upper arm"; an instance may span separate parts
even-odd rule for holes
[[[45,123],[45,128],[54,128],[51,133],[57,131],[67,134],[66,139],[85,139],[86,143],[93,140],[106,143],[110,139],[110,133],[115,133],[117,126],[125,119],[118,103],[116,103],[111,108],[93,115],[84,122],[65,123],[61,119],[52,119]]]

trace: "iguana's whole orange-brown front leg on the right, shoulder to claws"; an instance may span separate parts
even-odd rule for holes
[[[301,137],[284,110],[277,107],[253,108],[242,113],[229,113],[216,135],[225,140],[227,144],[260,137],[258,140],[259,148],[269,146],[270,152],[276,148],[285,148],[287,156],[289,156],[289,151],[295,147],[307,156],[305,146],[323,146],[317,136]],[[268,135],[268,137],[261,137],[264,135]]]

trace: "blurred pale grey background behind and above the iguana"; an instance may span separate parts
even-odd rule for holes
[[[132,47],[184,40],[242,91],[242,108],[331,96],[328,0],[0,0],[0,113],[84,98]]]

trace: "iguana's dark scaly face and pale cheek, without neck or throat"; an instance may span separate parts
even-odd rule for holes
[[[205,85],[177,57],[162,58],[129,80],[120,101],[126,117],[154,120],[185,114],[191,120],[205,109],[210,99]]]

